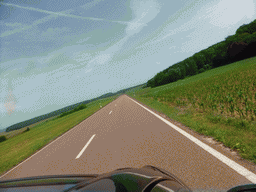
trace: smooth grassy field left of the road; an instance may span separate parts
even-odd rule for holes
[[[51,117],[30,125],[30,131],[24,132],[26,127],[20,130],[3,132],[7,140],[0,142],[0,174],[10,170],[15,165],[24,161],[32,154],[55,140],[74,126],[104,107],[119,95],[93,101],[86,104],[87,108],[56,119]]]

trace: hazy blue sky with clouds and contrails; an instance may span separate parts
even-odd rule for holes
[[[145,83],[256,19],[253,0],[0,4],[0,129]]]

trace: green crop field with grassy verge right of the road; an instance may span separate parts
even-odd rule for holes
[[[256,57],[126,94],[256,164]]]

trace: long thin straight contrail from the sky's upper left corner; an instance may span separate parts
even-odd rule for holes
[[[76,19],[90,19],[90,20],[95,20],[95,21],[109,21],[109,22],[114,22],[114,23],[121,23],[121,24],[132,24],[132,22],[125,22],[125,21],[113,21],[113,20],[107,20],[107,19],[101,19],[101,18],[94,18],[94,17],[81,17],[81,16],[76,16],[76,15],[71,15],[71,14],[65,14],[65,13],[61,13],[61,12],[52,12],[52,11],[45,11],[42,9],[37,9],[37,8],[32,8],[32,7],[22,7],[19,5],[13,5],[13,4],[9,4],[9,3],[2,3],[3,5],[9,5],[9,6],[14,6],[14,7],[18,7],[18,8],[22,8],[22,9],[28,9],[28,10],[32,10],[32,11],[38,11],[38,12],[42,12],[42,13],[48,13],[51,15],[58,15],[58,16],[64,16],[64,17],[71,17],[71,18],[76,18]],[[147,25],[145,23],[138,23],[141,25]]]

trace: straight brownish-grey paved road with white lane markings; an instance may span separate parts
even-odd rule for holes
[[[256,166],[127,95],[118,97],[0,177],[101,174],[153,165],[193,191],[256,183]]]

